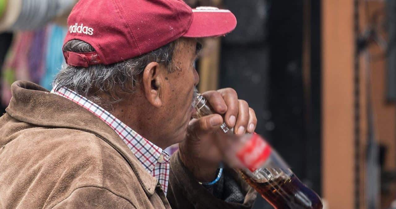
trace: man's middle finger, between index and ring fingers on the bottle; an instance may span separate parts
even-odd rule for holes
[[[224,119],[228,127],[234,127],[236,124],[236,117],[238,116],[238,95],[232,88],[223,88],[218,90],[223,96],[224,102],[227,105],[227,112]]]

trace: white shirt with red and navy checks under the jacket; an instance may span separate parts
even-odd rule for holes
[[[91,102],[84,96],[77,94],[69,88],[59,88],[55,91],[52,89],[51,93],[63,96],[79,105],[88,109],[91,113],[95,114],[102,121],[107,123],[117,134],[122,138],[125,144],[129,147],[132,153],[137,157],[142,166],[148,173],[157,178],[161,184],[165,194],[168,191],[169,180],[169,155],[161,148],[152,142],[139,135],[137,132],[122,123],[119,119],[114,117],[108,111],[99,105]]]

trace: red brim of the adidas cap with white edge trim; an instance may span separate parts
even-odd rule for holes
[[[192,10],[193,19],[183,37],[223,36],[236,27],[236,18],[229,10]]]

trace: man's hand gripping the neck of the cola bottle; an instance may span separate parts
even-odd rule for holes
[[[179,154],[197,180],[208,182],[215,179],[216,170],[223,160],[222,145],[230,143],[230,140],[224,140],[227,137],[219,130],[220,126],[225,122],[229,128],[234,128],[235,134],[253,133],[257,118],[246,101],[238,100],[232,88],[208,91],[202,95],[219,114],[192,119],[187,139],[179,144]]]

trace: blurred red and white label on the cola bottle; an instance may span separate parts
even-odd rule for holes
[[[247,169],[253,172],[267,161],[271,150],[271,146],[260,135],[253,134],[236,156]]]

